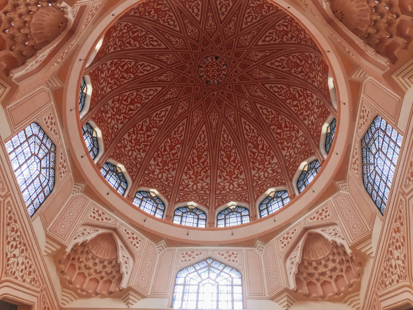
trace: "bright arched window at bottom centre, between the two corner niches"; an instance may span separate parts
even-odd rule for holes
[[[242,279],[237,269],[207,258],[176,275],[172,308],[242,309]]]

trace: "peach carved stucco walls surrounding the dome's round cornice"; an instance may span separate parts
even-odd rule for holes
[[[21,67],[4,67],[0,81],[2,145],[27,124],[37,122],[56,145],[56,181],[52,193],[29,217],[7,152],[1,147],[0,299],[31,305],[32,310],[167,309],[176,273],[211,257],[241,272],[244,309],[387,310],[413,306],[413,60],[386,64],[384,56],[373,54],[362,43],[355,44],[354,38],[349,43],[348,29],[330,29],[326,37],[338,50],[341,62],[350,64],[346,73],[353,97],[347,104],[352,104],[354,130],[346,154],[348,165],[306,214],[284,228],[244,243],[185,244],[147,233],[116,214],[85,185],[68,148],[61,101],[66,71],[73,61],[71,52],[85,40],[82,35],[90,31],[89,25],[93,27],[97,14],[109,11],[111,5],[62,2],[60,7],[65,7],[68,19],[66,33]],[[314,13],[328,20],[325,14],[330,13],[318,10],[320,2],[300,5],[297,10],[303,12],[311,7],[308,16]],[[341,41],[345,43],[336,40],[340,33],[348,36]],[[356,64],[354,55],[363,55],[363,63]],[[9,63],[14,60],[5,62]],[[377,72],[386,70],[388,78],[378,78]],[[6,75],[8,72],[11,74]],[[360,140],[377,114],[404,137],[384,216],[366,193],[361,173]],[[100,241],[99,236],[106,234],[113,242]],[[76,248],[96,246],[97,242],[111,253],[93,252],[99,259],[96,266],[106,265],[105,272],[110,271],[102,274],[103,268],[101,273],[95,268],[99,275],[95,279],[104,277],[99,283],[85,280],[89,278],[81,262],[87,257]],[[309,248],[314,246],[320,249],[311,256]],[[77,272],[68,269],[72,258]],[[306,276],[309,267],[318,262],[321,280],[315,272]],[[329,277],[332,269],[336,271]],[[112,281],[112,274],[116,274],[113,279],[121,280]]]

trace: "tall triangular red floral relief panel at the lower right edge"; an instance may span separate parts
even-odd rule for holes
[[[406,247],[406,208],[403,200],[399,202],[390,228],[390,236],[387,240],[385,258],[382,262],[380,277],[377,281],[377,290],[382,291],[389,286],[408,281],[406,264],[408,261]],[[380,270],[379,269],[379,270]]]

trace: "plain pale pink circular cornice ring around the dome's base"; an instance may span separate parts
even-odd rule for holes
[[[68,129],[71,148],[73,150],[72,154],[74,154],[74,162],[78,166],[85,179],[88,181],[88,185],[93,188],[97,195],[102,198],[104,203],[106,203],[110,207],[110,209],[114,210],[117,215],[119,215],[126,221],[131,222],[135,226],[164,238],[195,244],[201,242],[204,243],[205,241],[211,244],[240,242],[279,229],[285,224],[291,222],[292,218],[295,219],[297,218],[297,216],[303,215],[303,212],[309,207],[311,208],[312,204],[320,198],[320,195],[323,193],[323,191],[330,185],[332,179],[335,176],[335,172],[339,169],[340,162],[342,162],[343,160],[343,151],[347,147],[346,143],[349,133],[348,105],[339,104],[337,111],[339,130],[337,130],[336,133],[334,149],[323,163],[323,166],[316,176],[316,179],[310,184],[309,187],[304,190],[303,193],[294,198],[294,200],[286,207],[271,214],[271,216],[254,220],[249,224],[244,224],[240,227],[207,227],[206,229],[180,226],[173,224],[172,222],[167,222],[165,220],[155,219],[154,217],[147,215],[145,212],[131,207],[131,203],[126,200],[126,198],[120,197],[114,191],[109,189],[106,182],[100,177],[96,165],[94,165],[87,156],[84,156],[85,152],[83,140],[79,135],[79,124],[77,119],[78,115],[76,115],[76,113],[74,112],[71,112],[71,109],[73,110],[73,105],[77,100],[76,90],[78,88],[78,81],[81,79],[85,65],[85,62],[78,60],[82,58],[87,59],[87,57],[84,57],[84,55],[88,54],[88,51],[90,51],[91,48],[96,44],[101,35],[101,32],[97,31],[97,29],[103,29],[107,25],[110,26],[110,23],[113,21],[112,14],[114,14],[114,16],[120,16],[122,11],[127,10],[128,7],[133,4],[134,3],[131,1],[120,2],[113,10],[113,12],[109,12],[106,17],[102,17],[91,33],[85,33],[83,35],[85,37],[88,37],[88,42],[93,42],[92,39],[95,39],[95,43],[85,43],[83,46],[79,46],[75,53],[76,57],[74,57],[74,60],[72,61],[73,69],[69,76],[69,82],[67,84],[68,87],[65,90],[65,122],[67,125],[66,128]],[[330,46],[328,42],[323,38],[320,32],[316,29],[316,26],[311,24],[309,20],[296,7],[292,6],[291,4],[287,5],[285,1],[279,1],[277,5],[284,8],[289,7],[286,12],[289,12],[290,15],[294,16],[297,20],[300,20],[301,23],[304,24],[304,26],[306,26],[306,28],[310,31],[310,33],[312,33],[312,36],[318,38],[318,44],[321,47],[321,50],[334,51],[334,48],[332,48],[332,46]],[[109,26],[107,26],[107,28]],[[323,54],[325,56],[325,53]],[[219,60],[221,55],[211,54],[210,56],[214,57],[214,60],[215,57],[218,57]],[[348,102],[347,99],[349,98],[349,95],[347,91],[347,81],[344,79],[344,76],[342,74],[339,60],[337,60],[335,54],[331,52],[328,54],[328,61],[330,62],[330,67],[332,68],[333,76],[336,81],[335,85],[337,86],[337,94],[339,94],[338,98],[340,98],[341,102]],[[197,64],[197,66],[200,65],[202,64]],[[215,72],[214,74],[217,73]],[[218,72],[218,74],[220,73]],[[202,74],[199,74],[199,76],[200,75]],[[213,85],[207,85],[207,87],[208,86],[214,87]],[[250,205],[250,208],[254,207],[255,205]]]

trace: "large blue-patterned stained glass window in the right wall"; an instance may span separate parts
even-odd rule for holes
[[[361,140],[363,183],[384,214],[403,137],[379,115]]]

